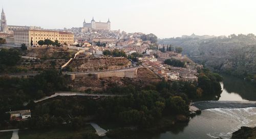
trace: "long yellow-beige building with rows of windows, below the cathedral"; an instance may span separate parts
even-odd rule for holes
[[[25,43],[27,46],[38,46],[38,41],[49,39],[58,40],[60,44],[74,44],[74,34],[70,32],[56,32],[47,30],[16,30],[14,31],[14,44],[20,45]]]

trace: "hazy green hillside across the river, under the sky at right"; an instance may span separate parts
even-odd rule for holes
[[[256,75],[256,37],[253,34],[228,37],[192,34],[159,39],[158,43],[183,47],[183,53],[190,59],[218,71],[243,77],[247,74]]]

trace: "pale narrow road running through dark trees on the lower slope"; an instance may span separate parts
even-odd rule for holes
[[[115,94],[88,94],[88,93],[80,93],[80,92],[57,92],[49,97],[43,97],[41,99],[34,100],[35,103],[47,100],[49,98],[53,98],[56,96],[91,96],[91,97],[124,97],[127,95],[115,95]]]

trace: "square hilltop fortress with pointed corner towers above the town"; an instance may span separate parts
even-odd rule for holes
[[[88,27],[88,29],[93,30],[111,30],[111,22],[110,19],[108,22],[96,22],[94,18],[91,20],[91,23],[86,23],[86,19],[83,21],[83,27]]]

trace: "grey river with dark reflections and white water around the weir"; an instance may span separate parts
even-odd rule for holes
[[[256,101],[256,88],[248,82],[230,76],[223,76],[222,94],[219,101]],[[226,105],[224,102],[222,105]],[[210,105],[210,104],[209,104]],[[212,139],[230,138],[232,132],[241,126],[256,126],[256,107],[211,108],[202,110],[202,114],[190,119],[187,125],[177,127],[179,131],[166,131],[152,139]]]

